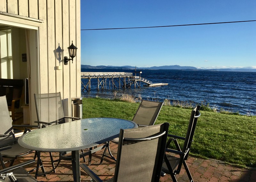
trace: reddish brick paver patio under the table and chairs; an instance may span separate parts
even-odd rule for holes
[[[111,151],[113,155],[116,156],[117,145],[111,143]],[[112,178],[115,172],[115,161],[105,158],[102,165],[99,165],[100,158],[103,151],[92,156],[92,164],[89,166],[101,179]],[[53,153],[54,156],[58,157],[58,153]],[[34,154],[30,154],[26,157],[18,159],[15,163],[24,162],[29,159],[33,159]],[[50,157],[49,153],[42,153],[42,160],[44,163],[45,170],[50,170]],[[83,163],[83,159],[81,159]],[[196,157],[189,157],[188,167],[192,174],[194,181],[198,182],[256,182],[256,170],[252,168],[241,168],[236,165],[225,164],[222,161],[216,161],[212,159],[201,159]],[[86,164],[88,164],[86,162]],[[34,163],[31,166],[27,166],[26,170],[30,170],[36,166]],[[31,175],[34,176],[35,172],[31,172]],[[184,170],[180,172],[179,175],[176,175],[179,182],[187,182],[188,176]],[[46,177],[38,177],[38,180],[42,181],[73,181],[72,176],[72,167],[70,161],[61,161],[60,165],[56,168],[56,173],[48,174]],[[81,180],[90,181],[90,176],[88,176],[81,169]],[[170,175],[160,178],[160,182],[172,181]]]

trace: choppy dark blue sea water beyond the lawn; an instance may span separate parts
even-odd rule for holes
[[[133,72],[124,69],[81,69],[81,72]],[[137,70],[138,71],[138,70]],[[196,104],[209,103],[217,110],[224,109],[240,114],[256,115],[256,72],[228,71],[188,71],[188,70],[141,70],[141,77],[153,83],[168,83],[168,85],[145,87],[134,86],[126,89],[109,88],[98,91],[97,79],[91,79],[90,92],[82,91],[83,97],[113,98],[118,95],[131,94],[143,99],[164,99],[193,102]],[[134,73],[133,73],[134,75]],[[137,74],[137,76],[139,76]],[[88,79],[81,79],[84,84]]]

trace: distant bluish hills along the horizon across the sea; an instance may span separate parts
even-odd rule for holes
[[[81,69],[135,69],[135,66],[90,66],[90,65],[81,65]],[[179,66],[179,65],[170,65],[170,66],[153,66],[153,67],[136,67],[137,70],[143,69],[180,69],[180,70],[194,70],[194,71],[244,71],[244,72],[256,72],[256,69],[250,68],[221,68],[221,69],[198,69],[193,66]]]

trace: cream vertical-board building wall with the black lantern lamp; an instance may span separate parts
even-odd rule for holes
[[[38,54],[38,60],[31,60],[31,78],[37,78],[36,83],[31,83],[32,92],[61,92],[64,113],[71,115],[71,98],[81,96],[80,0],[1,0],[1,19],[38,26],[36,35],[30,35],[38,41],[36,53],[31,53]],[[78,47],[77,54],[73,64],[69,61],[64,65],[63,58],[69,57],[67,47],[72,41]],[[55,51],[59,46],[63,52],[58,60]],[[35,118],[34,114],[32,120]]]

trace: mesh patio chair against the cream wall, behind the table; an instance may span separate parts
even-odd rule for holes
[[[72,120],[80,120],[81,118],[64,116],[62,99],[60,92],[57,93],[45,93],[45,94],[34,94],[36,104],[36,115],[37,121],[40,128],[65,123],[65,118]],[[75,132],[75,131],[74,131]],[[83,151],[82,151],[83,152]],[[38,154],[40,155],[40,154]],[[52,168],[54,169],[54,162],[52,153],[50,152],[50,158],[52,162]],[[84,162],[85,162],[85,157]],[[66,159],[66,158],[62,158]],[[66,160],[71,159],[67,157]],[[53,170],[55,172],[55,169]]]

